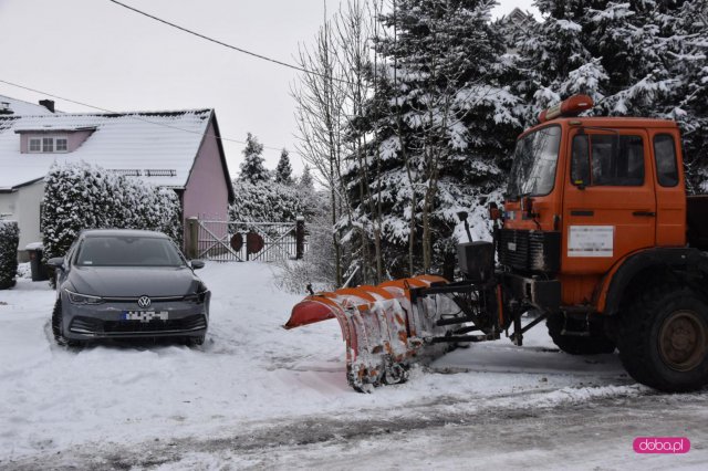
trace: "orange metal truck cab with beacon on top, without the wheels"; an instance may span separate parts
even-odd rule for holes
[[[684,245],[676,123],[560,115],[519,137],[499,259],[519,273],[556,276],[561,305],[592,304],[601,279],[634,252]]]

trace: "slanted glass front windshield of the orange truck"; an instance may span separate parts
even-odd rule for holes
[[[561,143],[561,127],[548,126],[517,142],[507,197],[543,196],[551,192]]]

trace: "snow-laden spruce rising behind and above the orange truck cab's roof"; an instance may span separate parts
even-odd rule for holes
[[[594,98],[596,115],[675,119],[689,189],[708,190],[708,3],[538,0],[537,7],[545,20],[518,44],[529,71],[527,124],[576,93]]]

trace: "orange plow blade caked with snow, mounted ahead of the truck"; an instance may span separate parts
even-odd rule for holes
[[[405,380],[407,367],[420,357],[446,352],[446,346],[425,338],[444,333],[436,324],[437,312],[449,300],[436,295],[410,301],[412,289],[446,283],[440,276],[421,275],[316,293],[293,307],[284,327],[336,318],[346,343],[347,380],[357,391],[368,393],[374,386]]]

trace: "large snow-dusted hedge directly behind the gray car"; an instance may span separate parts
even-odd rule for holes
[[[46,259],[64,255],[83,229],[156,230],[181,243],[181,211],[173,190],[85,163],[54,166],[44,181]]]

